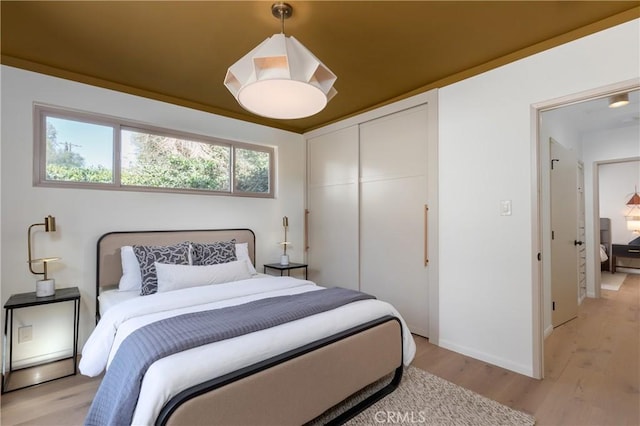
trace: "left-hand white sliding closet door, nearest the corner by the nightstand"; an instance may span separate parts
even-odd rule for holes
[[[358,290],[358,127],[307,141],[309,279]]]

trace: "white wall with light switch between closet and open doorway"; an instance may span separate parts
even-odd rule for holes
[[[534,375],[539,247],[530,109],[640,77],[639,22],[440,89],[441,346]],[[511,216],[500,216],[501,200],[512,200]]]

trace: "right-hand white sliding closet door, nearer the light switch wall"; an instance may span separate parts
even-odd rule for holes
[[[427,107],[360,125],[360,287],[427,336]]]

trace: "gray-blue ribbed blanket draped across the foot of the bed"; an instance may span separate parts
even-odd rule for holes
[[[179,315],[141,327],[122,342],[98,388],[85,425],[131,424],[144,374],[158,359],[373,298],[335,287]]]

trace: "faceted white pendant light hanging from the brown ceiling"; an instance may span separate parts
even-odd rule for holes
[[[309,117],[322,111],[337,91],[337,77],[313,53],[284,34],[293,8],[274,3],[281,32],[267,38],[227,70],[224,85],[247,111],[276,119]]]

